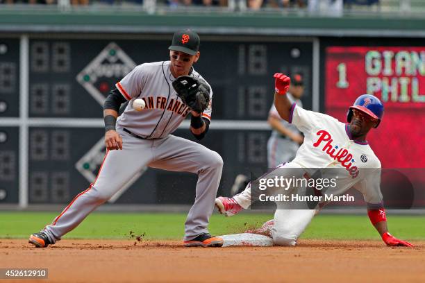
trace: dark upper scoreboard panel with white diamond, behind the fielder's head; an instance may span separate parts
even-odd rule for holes
[[[31,38],[29,116],[101,117],[115,83],[144,62],[169,60],[170,42]],[[213,119],[266,120],[278,71],[303,74],[310,105],[311,42],[203,36],[199,50],[194,69],[213,87]]]

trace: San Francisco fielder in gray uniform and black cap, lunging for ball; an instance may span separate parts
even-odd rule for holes
[[[32,234],[30,243],[36,247],[56,243],[143,166],[150,166],[198,175],[183,245],[222,246],[222,239],[212,237],[207,229],[222,175],[222,157],[201,144],[171,135],[188,114],[190,131],[197,139],[208,131],[213,92],[192,67],[199,60],[199,42],[194,31],[174,33],[169,61],[139,65],[115,85],[103,107],[107,151],[96,180],[53,223]],[[138,101],[133,107],[136,98],[144,103]],[[131,103],[118,117],[119,106],[126,101]]]

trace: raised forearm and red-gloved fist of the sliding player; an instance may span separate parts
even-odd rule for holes
[[[285,121],[289,121],[292,103],[285,95],[288,92],[291,79],[281,73],[274,74],[274,106]]]

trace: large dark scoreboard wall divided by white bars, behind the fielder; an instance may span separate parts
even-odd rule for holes
[[[108,92],[136,65],[169,60],[171,37],[30,35],[24,54],[27,63],[20,61],[19,39],[0,37],[0,203],[17,203],[19,166],[28,168],[29,204],[68,203],[86,189],[105,154],[102,106]],[[235,175],[267,166],[272,75],[301,72],[306,81],[303,103],[310,108],[313,43],[201,35],[200,52],[194,69],[214,93],[211,128],[201,144],[222,155],[219,190],[228,194]],[[22,93],[23,86],[27,91]],[[26,113],[22,113],[22,97],[28,103]],[[226,127],[214,126],[220,121],[226,121]],[[240,129],[240,123],[248,121],[266,127]],[[28,144],[24,149],[19,148],[23,129]],[[174,135],[194,140],[188,128],[179,128]],[[19,158],[22,153],[26,158]],[[192,174],[143,170],[115,202],[190,203],[196,180]]]

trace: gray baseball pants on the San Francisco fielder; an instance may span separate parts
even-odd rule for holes
[[[120,131],[119,134],[123,141],[122,150],[108,151],[94,183],[78,194],[53,223],[44,228],[51,242],[55,243],[76,228],[143,166],[198,175],[194,204],[185,222],[184,240],[208,232],[222,177],[222,157],[201,144],[173,135],[163,139],[138,139],[127,132]]]

